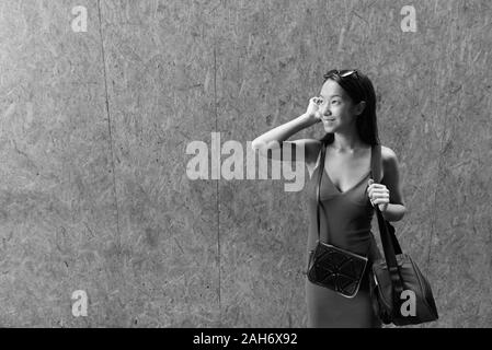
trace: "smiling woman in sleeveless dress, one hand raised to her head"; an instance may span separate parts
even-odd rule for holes
[[[308,327],[381,327],[369,295],[370,264],[381,257],[370,224],[376,205],[388,221],[398,221],[404,215],[407,209],[400,189],[398,160],[391,149],[381,145],[381,178],[369,178],[374,147],[379,144],[373,83],[356,70],[331,70],[323,78],[320,96],[310,98],[305,114],[258,137],[252,148],[260,150],[263,156],[282,160],[283,152],[268,150],[289,143],[289,161],[304,162],[307,166],[310,175],[306,187],[310,219],[307,252],[314,248],[318,240],[314,189],[318,172],[323,172],[320,240],[327,242],[328,228],[331,244],[368,255],[366,273],[353,299],[313,284],[306,278]],[[320,140],[285,141],[320,121],[327,132]],[[324,168],[320,170],[323,144],[327,148]],[[296,160],[296,148],[299,147],[304,150],[302,160]],[[306,266],[307,259],[308,254]]]

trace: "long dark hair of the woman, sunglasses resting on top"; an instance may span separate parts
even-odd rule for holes
[[[331,79],[342,86],[347,95],[351,96],[354,104],[357,104],[361,101],[366,102],[363,113],[361,113],[355,120],[356,129],[364,142],[370,145],[380,144],[376,117],[376,92],[374,85],[369,78],[358,70],[355,70],[355,73],[348,74],[347,77],[341,77],[350,71],[351,70],[346,69],[340,71],[330,70],[323,75],[323,84],[327,80]],[[323,138],[320,139],[324,144],[331,143],[333,140],[333,132],[327,132]]]

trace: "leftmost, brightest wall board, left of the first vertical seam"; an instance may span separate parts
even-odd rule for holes
[[[95,1],[84,4],[94,21]],[[113,324],[121,277],[96,23],[75,33],[71,7],[50,1],[1,7],[0,324]],[[71,314],[76,290],[89,318]]]

